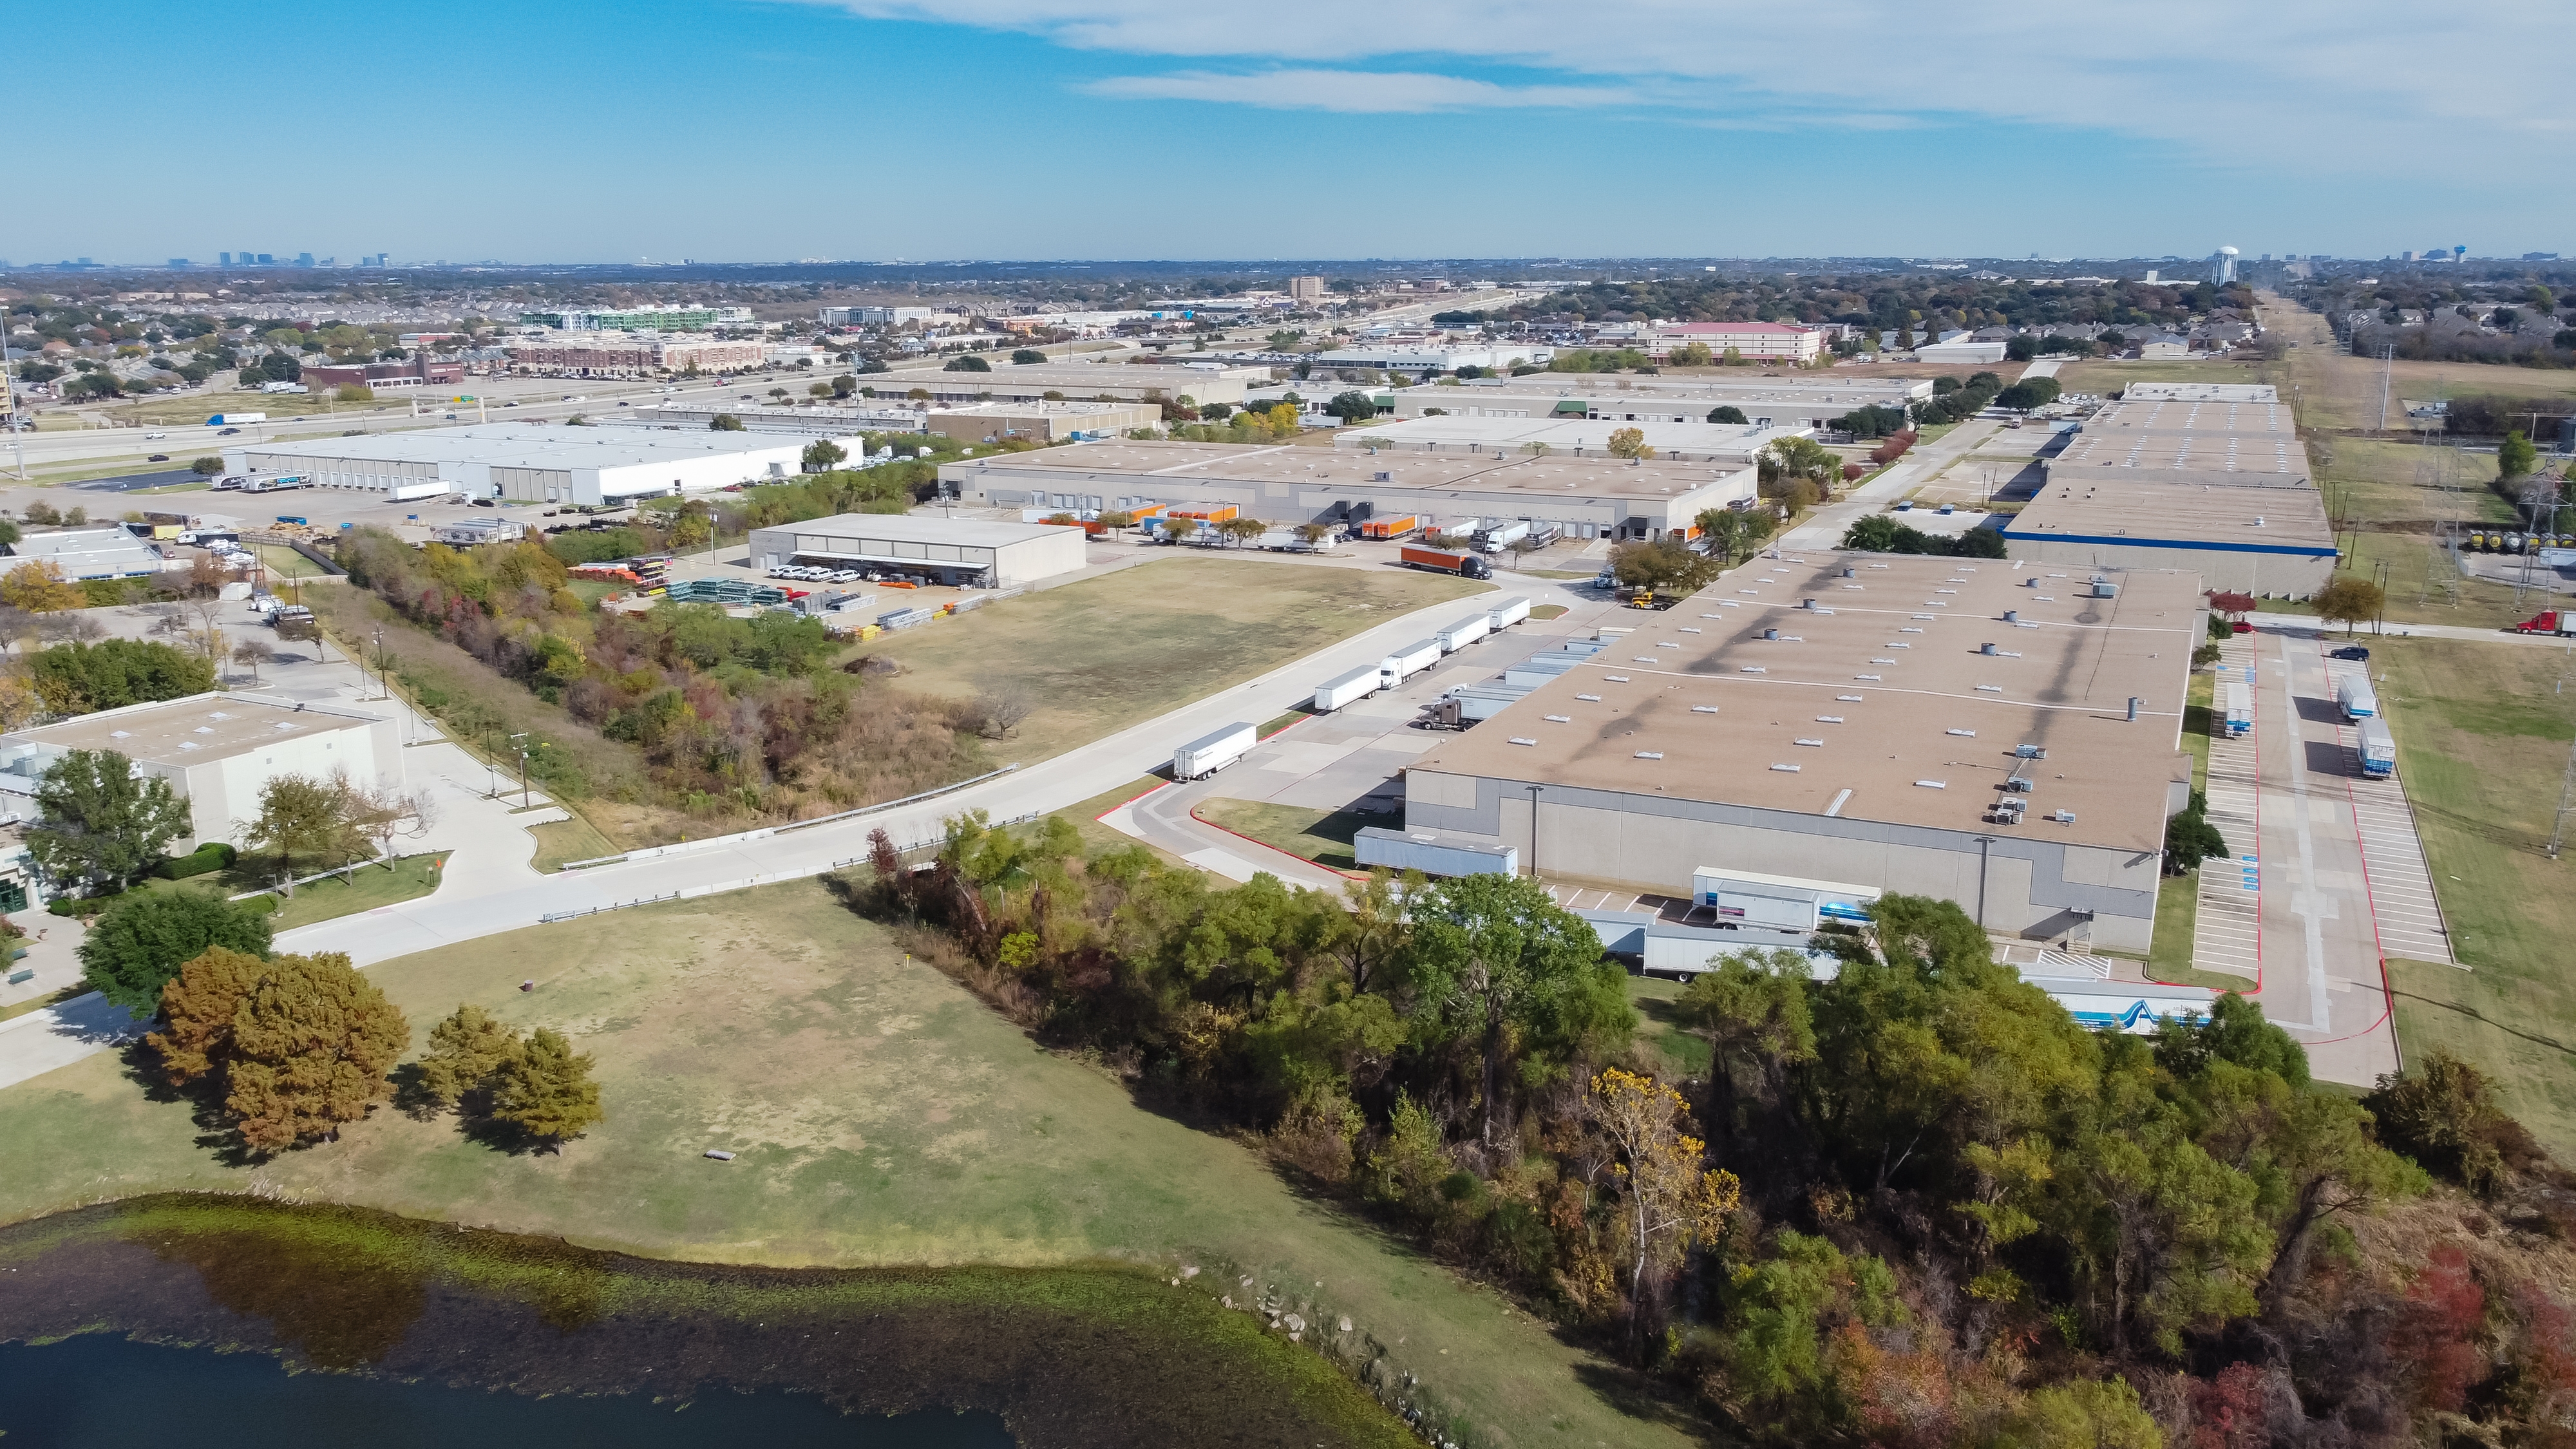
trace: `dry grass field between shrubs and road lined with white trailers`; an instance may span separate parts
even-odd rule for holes
[[[969,699],[1025,686],[1036,712],[992,748],[1043,761],[1206,699],[1334,639],[1489,585],[1409,570],[1154,559],[907,629],[853,652],[904,665],[902,688]]]

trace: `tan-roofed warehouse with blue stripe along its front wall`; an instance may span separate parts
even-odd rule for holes
[[[2043,464],[2004,523],[2014,559],[2192,570],[2208,588],[2308,598],[2336,544],[2290,407],[2262,384],[2130,384]]]

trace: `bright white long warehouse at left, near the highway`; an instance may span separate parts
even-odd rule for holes
[[[837,438],[858,454],[863,441]],[[301,474],[307,487],[345,487],[392,500],[464,492],[513,503],[631,503],[778,482],[804,467],[806,438],[662,428],[546,428],[484,423],[361,438],[224,449],[224,472]]]

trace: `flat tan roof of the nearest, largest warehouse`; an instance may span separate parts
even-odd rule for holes
[[[1968,833],[1989,830],[1986,810],[2022,776],[2022,833],[2156,851],[2200,580],[2107,572],[2120,593],[2089,598],[2089,578],[1994,559],[1759,559],[1669,614],[1633,614],[1633,632],[1414,768]],[[1978,652],[1989,642],[1996,655]],[[2076,822],[2048,822],[2056,810]]]

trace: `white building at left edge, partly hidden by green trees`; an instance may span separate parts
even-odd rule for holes
[[[402,732],[392,719],[258,694],[191,694],[100,709],[0,735],[0,794],[33,797],[44,771],[72,750],[113,750],[134,771],[170,781],[188,802],[188,851],[240,841],[260,815],[260,789],[278,776],[348,773],[363,789],[402,789]],[[33,815],[33,804],[21,804]]]

